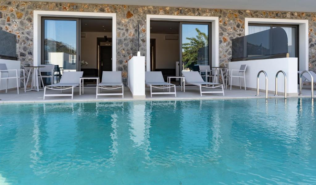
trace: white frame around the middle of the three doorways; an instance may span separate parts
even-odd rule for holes
[[[185,16],[185,15],[147,15],[146,18],[146,71],[150,71],[150,21],[191,21],[191,22],[210,22],[212,24],[212,66],[219,66],[219,22],[218,17],[207,16]],[[180,38],[179,38],[180,39]]]

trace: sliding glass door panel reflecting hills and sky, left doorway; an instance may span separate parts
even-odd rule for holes
[[[42,18],[41,64],[54,64],[64,71],[79,71],[79,20]]]

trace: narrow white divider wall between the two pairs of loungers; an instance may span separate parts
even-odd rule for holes
[[[132,57],[128,61],[128,87],[134,99],[145,99],[145,57]]]

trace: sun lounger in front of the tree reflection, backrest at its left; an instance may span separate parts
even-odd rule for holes
[[[204,80],[202,79],[198,71],[182,71],[182,74],[185,77],[186,83],[200,87],[201,96],[204,93],[223,93],[223,96],[225,96],[223,84],[204,82]],[[212,88],[212,89],[215,89],[217,87],[222,87],[222,91],[202,91],[202,87]]]

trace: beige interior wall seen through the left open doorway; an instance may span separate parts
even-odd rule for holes
[[[97,38],[104,37],[112,38],[112,33],[110,32],[81,32],[85,33],[86,37],[81,38],[81,55],[80,60],[88,62],[88,65],[82,65],[82,69],[93,68],[98,69],[97,63]]]

